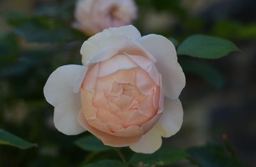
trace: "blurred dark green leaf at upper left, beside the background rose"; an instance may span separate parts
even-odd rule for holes
[[[71,28],[61,20],[53,17],[16,17],[12,15],[7,21],[15,30],[15,34],[22,36],[27,42],[71,42],[86,40],[80,31]]]

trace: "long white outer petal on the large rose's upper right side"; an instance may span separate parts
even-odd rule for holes
[[[186,84],[182,68],[177,62],[177,53],[170,40],[161,35],[147,35],[138,40],[157,60],[157,70],[163,77],[164,96],[177,99]]]

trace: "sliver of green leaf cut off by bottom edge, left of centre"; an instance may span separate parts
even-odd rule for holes
[[[84,167],[128,167],[128,164],[113,159],[106,159],[97,163],[86,164]]]

